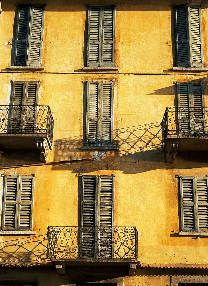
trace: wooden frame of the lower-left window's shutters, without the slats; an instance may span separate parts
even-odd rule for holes
[[[17,195],[16,202],[13,202],[13,205],[16,204],[16,212],[15,212],[15,228],[5,227],[5,209],[6,205],[12,204],[6,202],[6,194],[7,194],[7,178],[17,178]],[[32,178],[32,194],[31,194],[31,209],[30,209],[30,228],[20,227],[20,206],[25,204],[21,203],[21,182],[23,178]],[[4,176],[4,188],[3,188],[3,204],[2,204],[2,216],[1,216],[1,231],[32,231],[32,221],[33,221],[33,204],[34,204],[34,185],[35,185],[35,175],[6,175]]]

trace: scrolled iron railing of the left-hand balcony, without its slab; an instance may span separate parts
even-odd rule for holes
[[[49,106],[1,105],[1,134],[44,134],[51,144],[54,120]]]

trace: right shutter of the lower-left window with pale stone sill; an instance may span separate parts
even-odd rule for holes
[[[32,230],[34,176],[20,176],[18,229]]]

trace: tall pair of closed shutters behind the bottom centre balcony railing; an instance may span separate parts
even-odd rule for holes
[[[112,256],[114,188],[114,176],[82,177],[82,257]]]

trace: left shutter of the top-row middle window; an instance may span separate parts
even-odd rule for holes
[[[101,65],[101,7],[88,8],[87,66]]]

